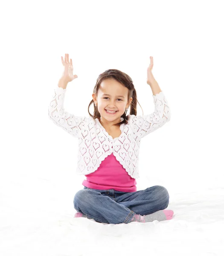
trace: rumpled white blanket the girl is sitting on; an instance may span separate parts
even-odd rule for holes
[[[8,182],[0,193],[2,256],[224,255],[224,187],[173,189],[169,221],[102,224],[73,218],[77,191],[63,180],[18,175]]]

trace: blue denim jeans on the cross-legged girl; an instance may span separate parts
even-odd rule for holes
[[[99,190],[84,186],[74,196],[74,208],[88,219],[107,224],[129,223],[135,214],[148,215],[166,209],[169,193],[163,186],[136,192]]]

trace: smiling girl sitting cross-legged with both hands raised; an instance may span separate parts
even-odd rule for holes
[[[100,74],[93,89],[93,115],[75,116],[64,111],[67,84],[73,75],[73,62],[65,54],[64,74],[54,89],[48,115],[52,121],[79,139],[76,173],[85,175],[83,189],[74,197],[74,217],[86,217],[96,222],[119,224],[132,221],[169,220],[172,210],[169,193],[163,186],[137,191],[138,155],[143,137],[170,120],[170,109],[164,93],[152,75],[153,58],[147,69],[155,111],[137,115],[137,93],[130,76],[116,69]],[[78,96],[77,96],[78,97]],[[130,107],[130,114],[126,116]],[[78,111],[77,111],[78,112]]]

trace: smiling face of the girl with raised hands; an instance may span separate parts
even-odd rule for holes
[[[128,88],[115,79],[103,80],[100,84],[97,97],[95,93],[92,96],[94,104],[97,105],[100,113],[101,123],[108,127],[121,121],[120,117],[132,101],[132,98],[128,100]],[[114,114],[107,113],[106,109],[116,112]]]

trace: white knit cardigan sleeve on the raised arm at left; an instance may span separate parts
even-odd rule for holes
[[[85,116],[74,116],[67,111],[64,111],[64,95],[66,89],[56,87],[52,95],[52,99],[48,105],[48,117],[55,125],[61,127],[74,137],[79,136],[79,131],[84,125]]]

